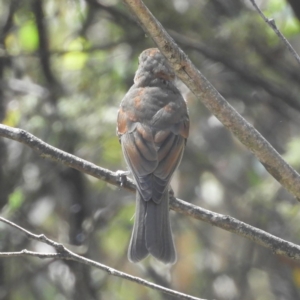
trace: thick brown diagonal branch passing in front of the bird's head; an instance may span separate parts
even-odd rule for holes
[[[300,201],[300,175],[286,163],[272,145],[249,124],[193,65],[187,55],[155,19],[141,0],[123,0],[152,37],[176,75],[195,96],[229,129],[266,170]]]

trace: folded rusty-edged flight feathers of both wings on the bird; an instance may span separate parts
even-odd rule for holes
[[[132,132],[122,134],[120,140],[143,199],[159,203],[181,161],[186,138],[167,130],[161,134],[163,139],[160,136],[155,142],[145,138],[144,128],[138,124]]]

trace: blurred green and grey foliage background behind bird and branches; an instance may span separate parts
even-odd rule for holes
[[[299,66],[250,1],[145,3],[220,93],[300,170]],[[299,53],[296,2],[260,4]],[[0,20],[1,122],[102,167],[125,169],[117,110],[138,55],[154,44],[122,1],[4,0]],[[298,244],[298,202],[178,85],[191,131],[172,184],[176,195]],[[0,140],[0,209],[76,253],[200,298],[300,299],[299,263],[173,212],[177,264],[129,263],[134,195],[6,139]],[[0,251],[52,251],[0,228]],[[171,297],[74,262],[23,257],[0,261],[0,299]]]

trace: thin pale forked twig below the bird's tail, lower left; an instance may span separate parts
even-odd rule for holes
[[[83,263],[85,265],[88,266],[92,266],[95,268],[98,268],[102,271],[107,272],[108,274],[112,275],[112,276],[116,276],[116,277],[120,277],[122,279],[126,279],[128,281],[132,281],[135,282],[137,284],[141,284],[144,285],[146,287],[149,287],[153,290],[157,290],[159,292],[165,293],[165,294],[169,294],[172,295],[174,297],[177,297],[179,299],[187,299],[187,300],[205,300],[205,299],[200,299],[197,297],[193,297],[184,293],[180,293],[177,291],[174,291],[172,289],[168,289],[165,288],[163,286],[160,286],[158,284],[155,283],[151,283],[147,280],[144,280],[142,278],[139,277],[135,277],[135,276],[131,276],[127,273],[118,271],[116,269],[113,269],[111,267],[108,267],[106,265],[100,264],[96,261],[90,260],[88,258],[82,257],[80,255],[77,255],[76,253],[70,251],[69,249],[67,249],[66,247],[64,247],[64,245],[57,243],[49,238],[47,238],[45,235],[41,234],[41,235],[36,235],[33,234],[32,232],[18,226],[17,224],[8,221],[4,218],[0,217],[0,221],[13,226],[14,228],[21,230],[23,233],[25,233],[27,235],[28,238],[32,239],[32,240],[36,240],[39,242],[43,242],[46,243],[48,245],[51,245],[52,247],[54,247],[54,249],[56,250],[57,253],[43,253],[43,252],[34,252],[34,251],[29,251],[29,250],[21,250],[18,252],[0,252],[0,257],[20,257],[20,256],[33,256],[33,257],[38,257],[38,258],[52,258],[52,259],[68,259],[68,260],[73,260],[79,263]]]

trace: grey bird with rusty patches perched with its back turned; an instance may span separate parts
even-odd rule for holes
[[[165,264],[177,260],[169,219],[169,184],[189,135],[187,104],[175,73],[157,48],[139,56],[134,84],[121,101],[117,135],[136,183],[136,210],[128,259],[149,254]]]

